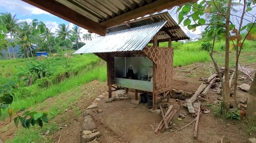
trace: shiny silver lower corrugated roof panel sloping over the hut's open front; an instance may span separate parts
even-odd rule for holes
[[[84,45],[74,54],[142,50],[165,24],[166,21],[161,21],[108,33]]]

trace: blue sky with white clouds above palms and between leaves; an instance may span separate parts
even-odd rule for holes
[[[237,9],[241,10],[241,7],[238,7]],[[171,16],[174,18],[174,20],[178,22],[177,15],[175,14],[176,10],[168,10],[168,11],[171,14]],[[44,10],[34,7],[21,0],[0,0],[0,12],[11,12],[12,14],[16,14],[16,18],[19,19],[19,21],[27,21],[28,23],[32,22],[32,20],[36,18],[39,21],[43,21],[49,29],[52,29],[52,32],[55,32],[58,25],[62,23],[69,25],[70,29],[74,26],[70,22],[67,22],[57,16],[54,16]],[[252,14],[256,13],[256,7],[251,11],[251,13]],[[241,15],[241,14],[238,13],[237,15]],[[231,17],[231,20],[233,21],[234,24],[237,24],[237,20],[235,18],[236,17]],[[245,18],[249,19],[249,17],[247,16],[245,16]],[[244,23],[246,24],[248,22],[244,21]],[[191,38],[196,37],[201,33],[201,31],[204,30],[204,27],[197,27],[196,31],[192,32],[192,31],[189,31],[186,27],[181,26],[181,28]],[[81,32],[85,34],[87,33],[87,30],[82,29]]]

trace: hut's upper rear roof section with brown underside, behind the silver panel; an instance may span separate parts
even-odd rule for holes
[[[107,29],[107,33],[117,32],[142,25],[148,25],[163,20],[168,22],[164,25],[164,28],[157,34],[157,39],[159,41],[168,41],[168,38],[170,37],[172,37],[172,40],[176,41],[190,39],[190,37],[188,37],[184,33],[180,26],[171,17],[169,12],[162,12],[150,16],[145,16],[140,19],[125,22],[124,24],[118,26],[110,27]]]

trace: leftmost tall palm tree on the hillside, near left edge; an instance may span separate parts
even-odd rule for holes
[[[6,25],[8,33],[10,34],[10,39],[13,40],[14,34],[18,32],[18,23],[17,23],[18,19],[15,18],[16,14],[12,16],[10,12],[4,12],[4,13],[0,13],[0,15],[2,17],[1,21]],[[9,53],[9,57],[11,59],[10,50],[8,46],[7,46],[7,50]],[[12,54],[13,54],[13,58],[15,59],[14,48],[12,50]]]

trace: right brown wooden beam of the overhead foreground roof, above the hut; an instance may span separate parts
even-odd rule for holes
[[[144,15],[151,14],[157,11],[162,11],[166,8],[174,7],[176,5],[184,4],[190,1],[192,0],[156,0],[152,3],[146,4],[119,16],[113,17],[100,24],[105,27],[111,27],[117,24],[121,24],[125,21],[136,19],[138,17],[142,17]]]

